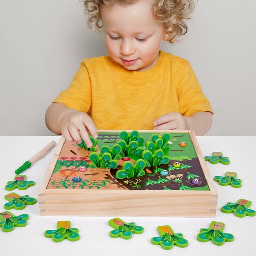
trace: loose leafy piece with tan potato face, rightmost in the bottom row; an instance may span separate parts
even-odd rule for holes
[[[225,242],[232,242],[234,236],[232,234],[223,233],[224,227],[224,223],[212,221],[208,229],[200,229],[200,233],[197,234],[197,240],[200,242],[212,240],[215,245],[223,245]]]

